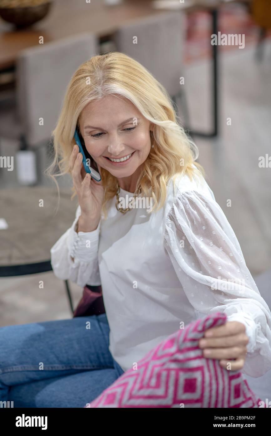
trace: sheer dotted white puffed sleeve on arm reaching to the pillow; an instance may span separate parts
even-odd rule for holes
[[[208,195],[177,191],[167,213],[164,247],[192,306],[223,312],[246,326],[242,371],[260,377],[271,368],[271,312],[245,264],[224,212]]]

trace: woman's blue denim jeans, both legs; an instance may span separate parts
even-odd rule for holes
[[[0,401],[13,407],[84,407],[124,371],[106,314],[0,327]]]

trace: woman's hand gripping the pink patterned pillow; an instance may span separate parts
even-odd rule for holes
[[[212,335],[209,337],[209,334]],[[244,366],[249,338],[246,327],[238,321],[227,321],[224,325],[205,331],[199,341],[203,355],[209,359],[219,359],[224,369],[238,371]],[[210,354],[207,351],[210,350]]]

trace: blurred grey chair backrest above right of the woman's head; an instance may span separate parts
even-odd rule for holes
[[[182,11],[154,14],[120,27],[114,42],[117,51],[140,62],[173,96],[181,87],[184,26]]]

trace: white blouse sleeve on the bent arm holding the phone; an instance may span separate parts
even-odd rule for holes
[[[80,206],[75,215],[72,226],[50,249],[52,269],[59,279],[69,279],[82,287],[86,284],[98,286],[101,284],[98,264],[100,222],[93,232],[77,233],[75,225],[81,215]]]

